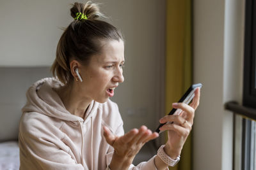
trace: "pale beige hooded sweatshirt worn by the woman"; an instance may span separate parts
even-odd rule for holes
[[[26,94],[19,127],[20,169],[106,169],[113,148],[106,143],[103,125],[124,134],[118,106],[92,101],[83,119],[69,113],[53,88],[54,78],[34,83]],[[154,157],[130,169],[156,169]]]

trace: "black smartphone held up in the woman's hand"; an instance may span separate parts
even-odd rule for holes
[[[189,104],[191,102],[191,100],[193,99],[193,97],[195,96],[195,90],[197,88],[201,89],[201,87],[202,87],[201,83],[191,85],[191,87],[189,87],[189,89],[185,92],[185,94],[180,98],[178,103]],[[168,115],[180,115],[181,112],[182,112],[182,110],[173,108]],[[163,125],[164,124],[160,124],[159,127],[157,127],[157,129],[156,129],[157,133],[160,132],[159,128],[162,127]]]

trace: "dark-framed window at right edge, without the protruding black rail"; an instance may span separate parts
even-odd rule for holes
[[[245,17],[243,106],[256,108],[256,3],[254,0],[246,0]],[[255,111],[247,117],[243,118],[242,123],[241,167],[255,170],[256,122],[250,119],[256,118]]]

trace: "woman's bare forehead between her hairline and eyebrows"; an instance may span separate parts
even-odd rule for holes
[[[124,42],[119,41],[103,41],[102,49],[99,55],[93,57],[97,62],[121,62],[124,60]]]

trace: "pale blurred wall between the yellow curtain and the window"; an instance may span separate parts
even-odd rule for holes
[[[244,1],[194,1],[194,81],[203,83],[193,134],[193,169],[232,169],[232,113],[241,101]]]

